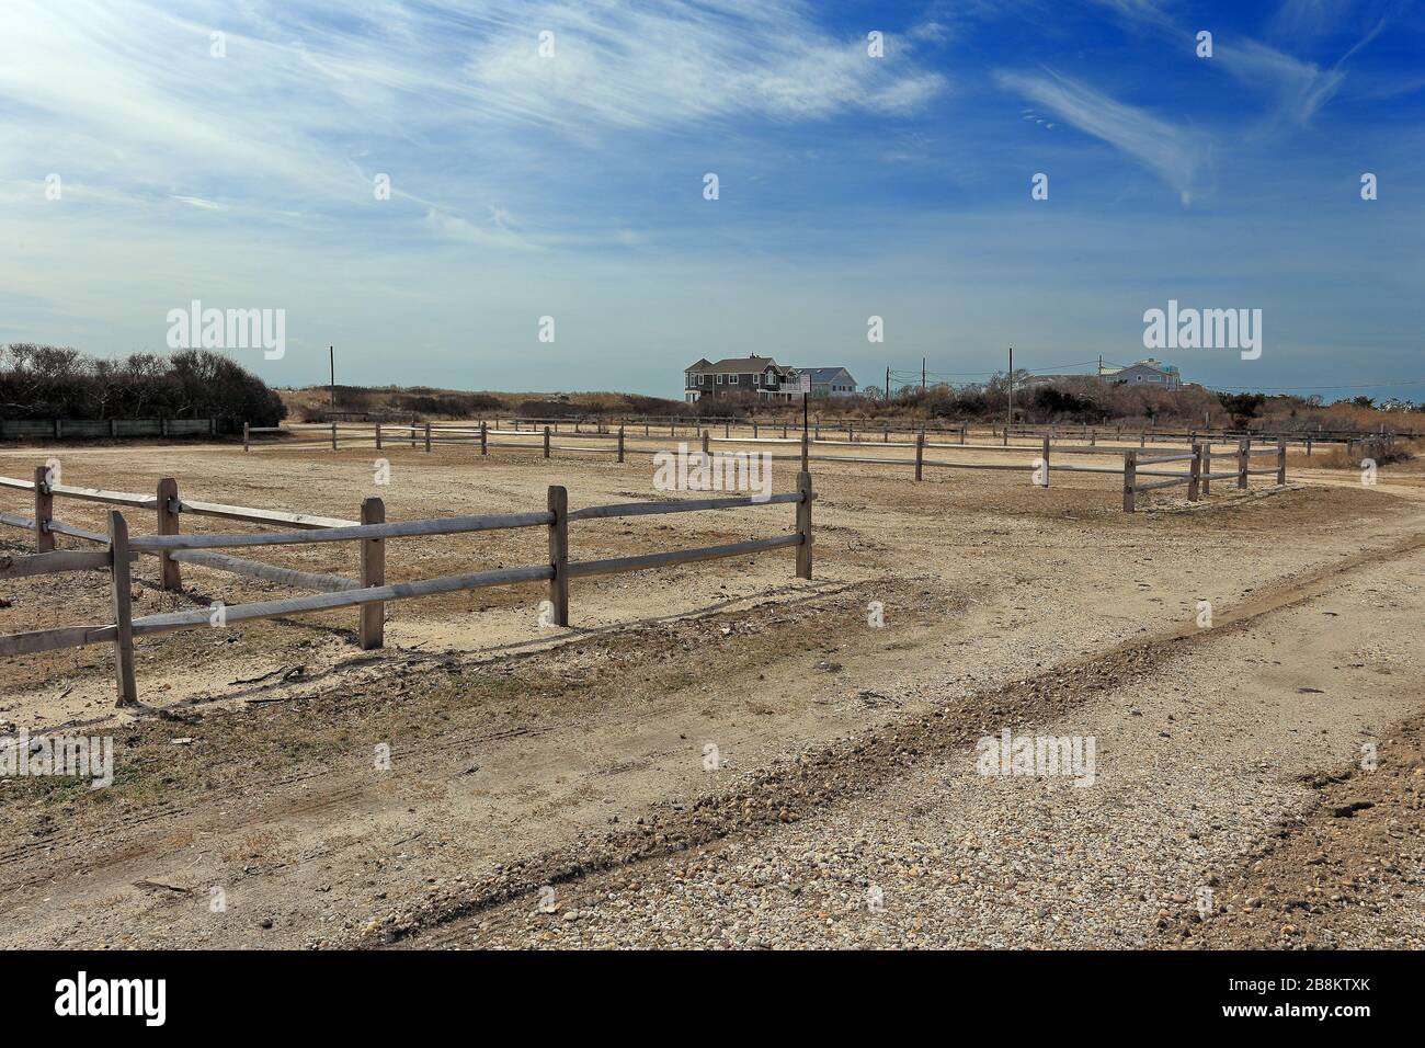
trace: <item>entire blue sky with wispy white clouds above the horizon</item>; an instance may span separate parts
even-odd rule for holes
[[[282,359],[232,351],[279,385],[335,344],[346,382],[681,396],[750,352],[1129,362],[1177,299],[1263,309],[1188,381],[1425,398],[1422,57],[1385,0],[7,0],[0,342],[162,351],[201,299],[286,311]]]

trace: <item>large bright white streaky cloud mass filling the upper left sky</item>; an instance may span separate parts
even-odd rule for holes
[[[522,185],[540,160],[520,128],[590,144],[727,118],[908,114],[945,86],[912,41],[872,58],[801,0],[194,0],[181,14],[7,0],[0,143],[16,148],[0,178],[33,177],[23,164],[44,155],[155,208],[321,217],[368,207],[370,177],[389,171],[410,227],[435,232],[432,211],[480,215],[502,184]]]

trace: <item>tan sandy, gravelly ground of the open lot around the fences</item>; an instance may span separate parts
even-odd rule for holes
[[[174,476],[187,498],[349,518],[366,496],[389,519],[539,509],[551,482],[573,508],[667,498],[647,452],[386,448],[386,486],[370,448],[6,449],[0,473],[50,456],[66,483],[151,492]],[[118,774],[103,790],[0,779],[0,941],[1418,942],[1419,863],[1392,860],[1414,883],[1357,870],[1361,841],[1330,830],[1379,820],[1378,850],[1391,834],[1418,847],[1405,788],[1419,780],[1371,779],[1388,798],[1325,828],[1312,813],[1352,783],[1362,740],[1382,770],[1408,767],[1392,740],[1425,709],[1425,482],[1416,463],[1374,488],[1307,465],[1292,455],[1287,489],[1218,482],[1207,503],[1154,493],[1126,516],[1110,476],[1054,473],[1045,490],[1017,472],[913,485],[905,465],[814,463],[809,583],[789,552],[583,580],[570,630],[539,627],[540,585],[402,602],[379,653],[356,649],[353,612],[172,633],[138,644],[137,714],[111,709],[103,647],[4,660],[0,730],[111,734]],[[777,490],[794,471],[775,463]],[[0,508],[26,499],[0,492]],[[791,510],[577,523],[573,550],[760,538],[789,530]],[[101,506],[58,512],[101,529]],[[142,516],[137,533],[152,530]],[[6,532],[0,552],[27,548]],[[400,540],[388,577],[544,556],[540,529]],[[259,559],[355,569],[336,543]],[[142,562],[138,613],[291,593],[184,579],[161,593]],[[107,600],[98,573],[0,583],[0,632],[105,622]],[[1002,726],[1094,736],[1094,787],[975,774],[976,739]],[[787,769],[826,774],[805,786]],[[1264,881],[1308,836],[1327,858],[1300,868],[1335,881]],[[1342,890],[1367,877],[1385,888]],[[554,914],[539,913],[546,883]],[[1203,887],[1224,920],[1193,920]],[[1321,905],[1320,927],[1301,907],[1281,918],[1278,897]]]

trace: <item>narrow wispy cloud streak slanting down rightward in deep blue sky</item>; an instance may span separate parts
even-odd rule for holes
[[[1129,154],[1191,202],[1193,181],[1207,158],[1208,140],[1147,110],[1117,101],[1057,73],[1000,73],[999,83],[1052,110],[1063,123]]]

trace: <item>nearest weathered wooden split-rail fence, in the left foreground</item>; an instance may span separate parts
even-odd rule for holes
[[[607,506],[569,509],[569,493],[561,486],[550,486],[547,508],[526,513],[499,513],[484,516],[435,518],[425,520],[386,522],[385,505],[380,499],[366,499],[362,503],[361,523],[333,518],[314,518],[301,513],[259,510],[245,506],[221,503],[185,503],[178,498],[177,485],[171,479],[161,481],[155,496],[131,495],[128,492],[100,492],[100,489],[67,488],[46,482],[46,471],[36,471],[33,482],[4,481],[3,486],[34,490],[37,512],[34,519],[13,513],[0,513],[0,523],[26,528],[36,533],[37,552],[33,555],[0,556],[0,579],[19,579],[50,575],[54,572],[108,570],[114,606],[114,622],[94,626],[60,626],[0,636],[0,657],[36,654],[64,647],[83,647],[94,643],[113,643],[114,674],[120,706],[137,704],[138,693],[134,677],[134,637],[165,633],[170,630],[201,626],[225,627],[237,622],[271,619],[276,616],[309,615],[341,607],[361,609],[359,643],[363,649],[382,647],[385,643],[385,605],[392,600],[455,593],[506,586],[524,582],[547,582],[551,606],[551,625],[569,626],[570,580],[596,575],[638,572],[667,565],[695,563],[734,556],[750,556],[774,549],[797,550],[797,576],[811,579],[812,572],[812,515],[815,499],[811,475],[802,472],[797,478],[797,490],[767,498],[738,496],[724,499],[690,499],[680,502],[628,502]],[[97,498],[95,493],[103,498]],[[76,529],[56,520],[50,503],[56,496],[90,498],[98,502],[113,502],[128,508],[151,508],[158,513],[157,533],[131,536],[128,522],[118,509],[108,510],[108,532],[98,535]],[[720,546],[697,549],[675,549],[637,556],[606,558],[597,560],[570,560],[569,525],[581,520],[606,520],[614,518],[647,516],[654,513],[691,513],[700,510],[737,510],[761,505],[795,505],[795,528],[787,535],[767,539],[751,539]],[[201,509],[194,509],[194,506]],[[259,525],[286,525],[292,530],[244,535],[184,535],[178,529],[178,515],[201,512],[208,516],[248,520]],[[503,567],[489,572],[442,576],[419,582],[388,585],[386,540],[418,538],[428,535],[466,535],[475,532],[507,530],[514,528],[544,528],[549,533],[549,562],[524,567]],[[56,550],[53,536],[71,535],[105,545],[104,550]],[[315,542],[355,542],[361,552],[359,577],[346,579],[336,575],[299,572],[274,565],[247,560],[229,553],[214,553],[215,549],[241,549],[254,546],[292,546]],[[133,617],[131,609],[131,563],[140,555],[160,559],[161,585],[178,589],[178,565],[194,563],[242,576],[266,579],[295,589],[315,589],[316,593],[259,600],[245,605],[198,607],[187,612],[168,612]]]

